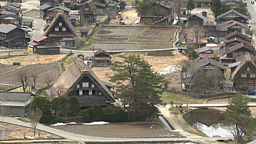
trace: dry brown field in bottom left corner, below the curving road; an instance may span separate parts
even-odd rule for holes
[[[23,139],[24,136],[29,139],[60,139],[60,137],[46,133],[43,131],[36,131],[36,136],[34,137],[33,129],[13,124],[7,124],[0,122],[0,140],[15,140]],[[6,137],[3,137],[3,133],[6,134]],[[40,133],[40,137],[38,137]]]

